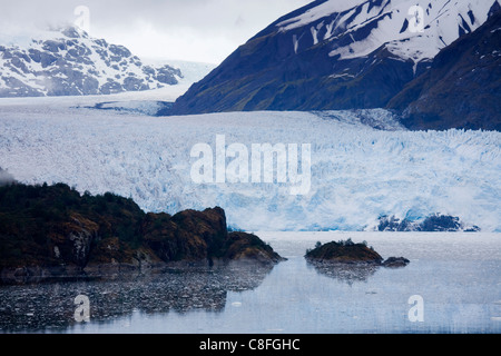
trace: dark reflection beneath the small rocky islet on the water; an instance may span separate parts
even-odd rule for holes
[[[343,264],[320,260],[308,260],[307,264],[318,274],[348,285],[367,281],[381,268],[381,266],[374,264]]]

